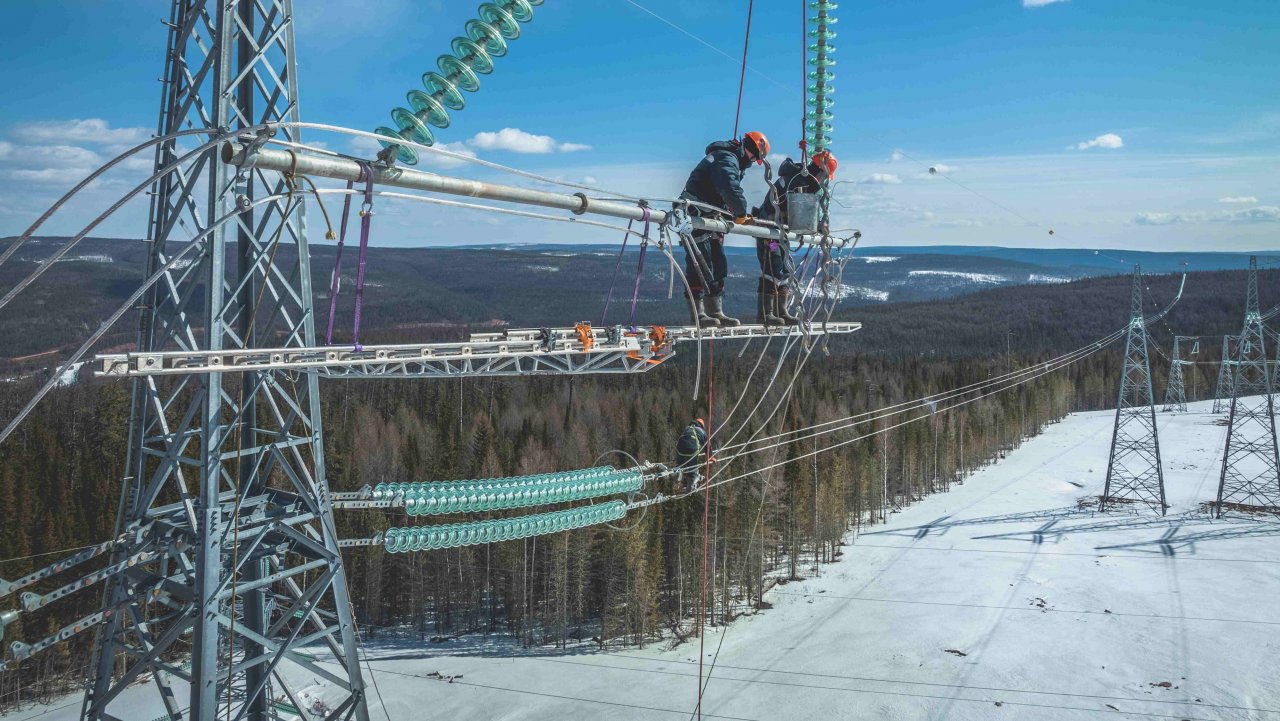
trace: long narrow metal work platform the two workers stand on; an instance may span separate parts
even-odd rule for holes
[[[435,378],[644,373],[676,355],[680,342],[854,333],[861,323],[778,327],[611,325],[472,333],[466,342],[317,346],[109,353],[95,357],[102,377],[296,370],[323,378]]]

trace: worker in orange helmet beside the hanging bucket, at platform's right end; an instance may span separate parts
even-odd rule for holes
[[[787,222],[787,193],[817,193],[822,184],[836,175],[836,156],[823,150],[813,154],[809,165],[787,158],[778,168],[778,179],[764,195],[756,215],[778,224]],[[818,219],[818,229],[827,231],[827,218]],[[786,241],[756,238],[755,257],[760,261],[760,283],[756,287],[756,318],[764,325],[796,325],[800,319],[787,311],[791,279],[791,248]]]

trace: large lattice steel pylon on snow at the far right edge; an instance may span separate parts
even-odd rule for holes
[[[1219,517],[1225,505],[1280,510],[1280,448],[1276,446],[1266,334],[1258,312],[1258,260],[1251,256],[1244,328],[1235,344],[1235,378],[1217,485]]]

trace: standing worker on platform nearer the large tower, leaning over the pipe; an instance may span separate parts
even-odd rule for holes
[[[689,174],[680,197],[723,209],[724,219],[731,218],[737,224],[753,223],[742,193],[742,172],[753,163],[764,163],[768,154],[769,140],[756,131],[746,133],[741,141],[713,142]],[[696,205],[689,211],[692,215],[714,214]],[[724,278],[728,277],[724,233],[694,231],[692,241],[692,247],[685,248],[685,275],[694,295],[694,321],[710,327],[737,325],[737,319],[724,315]]]

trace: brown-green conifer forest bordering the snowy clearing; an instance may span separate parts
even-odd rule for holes
[[[1267,271],[1261,280],[1267,288],[1280,278]],[[1176,286],[1176,277],[1151,278],[1147,311],[1167,302]],[[1263,292],[1265,304],[1268,298]],[[1184,375],[1188,400],[1212,397],[1221,334],[1239,330],[1243,302],[1243,273],[1188,279],[1175,311],[1149,329],[1157,401],[1174,333],[1204,336]],[[719,344],[713,384],[704,365],[696,398],[694,353],[685,347],[680,359],[639,377],[326,380],[321,393],[329,485],[355,490],[376,483],[625,464],[613,451],[671,462],[680,430],[708,410],[713,428],[730,419],[717,442],[727,443],[735,433],[739,441],[772,437],[1043,364],[1123,328],[1128,305],[1129,278],[1111,277],[852,309],[838,316],[861,320],[864,329],[833,338],[803,368],[795,352],[780,360],[773,347],[762,360],[759,344]],[[403,333],[375,328],[370,341],[404,339]],[[461,634],[507,634],[535,645],[694,636],[704,512],[707,622],[762,612],[768,588],[822,572],[823,563],[840,558],[851,529],[964,483],[1069,412],[1112,407],[1121,351],[1112,343],[1007,392],[968,394],[746,457],[728,456],[717,469],[726,478],[777,467],[718,485],[705,499],[699,494],[632,514],[617,528],[420,553],[348,549],[344,560],[361,633],[399,634],[422,644],[448,643]],[[774,369],[777,379],[765,393]],[[0,415],[12,417],[36,380],[3,384]],[[791,393],[771,414],[786,387]],[[751,412],[762,394],[759,410]],[[960,400],[965,402],[948,409]],[[52,393],[0,446],[0,579],[22,576],[64,549],[113,534],[128,414],[127,383],[82,375]],[[1097,458],[1096,473],[1105,474],[1106,462]],[[344,538],[362,537],[389,526],[457,520],[410,517],[402,510],[340,511],[338,530]],[[5,643],[54,633],[95,610],[99,597],[96,588],[87,589],[56,610],[27,613],[6,629]],[[77,636],[18,671],[0,674],[0,704],[47,698],[73,685],[91,636]]]

